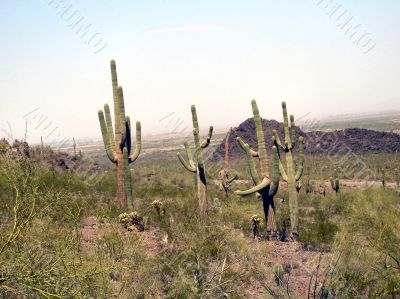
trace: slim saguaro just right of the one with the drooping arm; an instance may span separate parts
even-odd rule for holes
[[[290,224],[291,224],[291,236],[293,238],[298,237],[298,215],[299,215],[299,203],[298,194],[296,191],[296,182],[298,182],[303,174],[304,166],[304,145],[303,137],[299,137],[299,163],[297,165],[297,171],[295,171],[295,165],[293,162],[292,151],[296,145],[296,126],[294,124],[294,116],[290,115],[290,126],[288,121],[288,115],[286,110],[286,103],[282,102],[283,110],[283,124],[285,129],[285,143],[283,144],[279,138],[276,130],[273,132],[274,143],[282,151],[285,152],[286,158],[286,170],[279,159],[279,171],[282,179],[288,183],[289,191],[289,210],[290,210]]]

